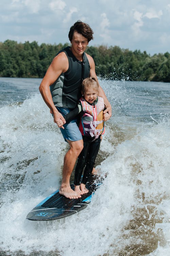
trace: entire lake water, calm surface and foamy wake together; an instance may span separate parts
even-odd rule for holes
[[[0,255],[170,255],[170,83],[99,81],[113,107],[96,162],[107,178],[85,210],[33,222],[68,146],[41,79],[0,77]]]

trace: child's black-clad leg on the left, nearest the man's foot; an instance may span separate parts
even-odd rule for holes
[[[84,194],[80,190],[80,180],[81,180],[81,176],[82,176],[82,173],[83,173],[83,169],[86,165],[89,146],[90,146],[90,142],[83,141],[83,150],[82,150],[82,152],[80,153],[80,155],[78,157],[77,165],[75,167],[75,174],[74,174],[74,187],[75,187],[75,189],[74,190],[80,195]]]

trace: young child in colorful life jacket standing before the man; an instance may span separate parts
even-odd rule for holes
[[[66,122],[73,119],[79,113],[81,114],[79,129],[83,137],[83,150],[80,153],[75,167],[74,187],[79,195],[88,193],[86,183],[94,168],[95,160],[100,148],[104,133],[104,121],[109,119],[109,114],[103,114],[104,100],[98,96],[99,84],[94,77],[87,77],[82,83],[82,98],[78,106],[64,116]],[[60,119],[57,122],[58,127],[63,126]],[[84,169],[85,167],[85,169]],[[83,179],[80,184],[81,176]]]

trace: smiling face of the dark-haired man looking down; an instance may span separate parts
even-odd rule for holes
[[[72,44],[72,53],[76,56],[82,56],[84,53],[87,45],[88,40],[87,38],[83,37],[82,34],[79,34],[77,31],[74,31],[73,38],[71,40]]]

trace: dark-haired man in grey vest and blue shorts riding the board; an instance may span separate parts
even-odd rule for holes
[[[54,123],[58,119],[64,122],[61,132],[70,149],[64,157],[63,179],[59,193],[67,198],[81,197],[70,187],[70,176],[75,162],[83,149],[81,132],[76,120],[66,124],[64,115],[74,109],[81,96],[81,83],[83,79],[93,76],[97,79],[95,62],[84,51],[91,39],[93,31],[88,24],[74,23],[69,31],[71,47],[61,50],[51,62],[40,86],[40,93],[53,114]],[[99,86],[99,96],[103,97],[109,117],[112,115],[111,104],[108,102],[103,89]]]

